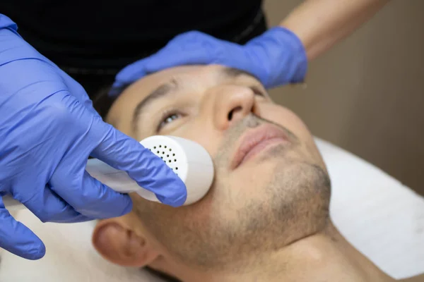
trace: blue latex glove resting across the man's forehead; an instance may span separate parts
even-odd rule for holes
[[[307,71],[302,42],[283,27],[273,27],[245,45],[216,39],[202,32],[187,32],[172,39],[153,56],[126,66],[117,74],[110,94],[117,94],[148,73],[172,66],[209,63],[252,73],[266,87],[302,82]]]

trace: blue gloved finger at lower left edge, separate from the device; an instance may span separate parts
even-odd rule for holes
[[[13,219],[0,197],[0,247],[25,259],[41,259],[46,247],[28,227]]]

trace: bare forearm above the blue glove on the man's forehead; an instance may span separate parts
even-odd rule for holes
[[[281,22],[305,46],[308,60],[315,59],[381,9],[389,0],[306,0]]]

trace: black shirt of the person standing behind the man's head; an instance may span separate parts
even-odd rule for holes
[[[0,13],[65,70],[116,73],[189,30],[242,43],[261,0],[1,0]]]

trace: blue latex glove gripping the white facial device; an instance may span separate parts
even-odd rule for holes
[[[91,154],[126,171],[174,207],[184,183],[136,140],[104,123],[83,87],[39,54],[0,14],[0,196],[12,195],[41,221],[78,222],[121,216],[128,195],[90,177]],[[154,216],[154,215],[152,215]],[[0,247],[39,259],[45,246],[8,213],[0,197]]]

